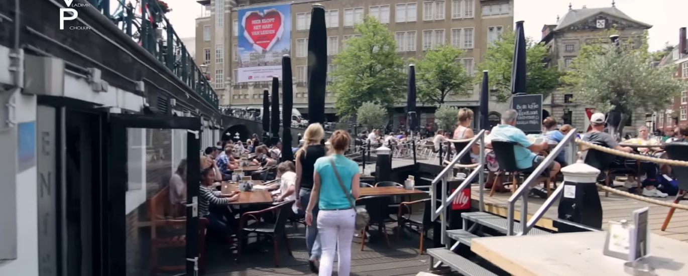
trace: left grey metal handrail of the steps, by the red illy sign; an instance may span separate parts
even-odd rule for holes
[[[480,165],[475,167],[471,174],[464,179],[464,181],[456,187],[456,189],[451,193],[451,195],[447,195],[447,179],[449,178],[449,173],[453,171],[454,165],[461,160],[461,158],[469,154],[469,151],[473,148],[473,145],[475,145],[476,142],[480,141]],[[485,187],[485,181],[484,181],[484,173],[483,173],[483,168],[485,167],[485,130],[481,130],[478,134],[471,139],[471,142],[469,142],[464,149],[460,153],[458,153],[454,158],[447,164],[447,167],[444,167],[442,169],[442,172],[438,174],[438,176],[432,180],[430,183],[430,198],[435,199],[436,194],[436,184],[438,184],[440,181],[442,182],[442,205],[439,207],[437,206],[437,200],[430,200],[431,202],[431,215],[432,215],[432,220],[436,220],[440,214],[444,215],[442,217],[442,244],[445,246],[449,246],[449,243],[447,243],[447,206],[451,206],[451,202],[454,200],[454,198],[461,193],[463,189],[466,189],[466,187],[469,187],[471,182],[473,181],[473,178],[475,178],[476,175],[480,176],[479,184],[480,184],[480,211],[484,211],[484,206],[483,206],[483,198],[484,198],[484,187]]]

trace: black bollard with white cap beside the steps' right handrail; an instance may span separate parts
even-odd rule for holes
[[[594,229],[602,228],[602,204],[595,183],[599,169],[577,162],[561,169],[563,173],[563,195],[559,200],[559,220],[574,224],[560,223],[559,233],[581,232],[581,224]]]

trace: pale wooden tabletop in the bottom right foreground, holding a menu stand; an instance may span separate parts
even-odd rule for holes
[[[606,232],[480,237],[471,251],[514,276],[628,276],[602,253]],[[649,262],[660,276],[688,275],[688,243],[650,234]]]

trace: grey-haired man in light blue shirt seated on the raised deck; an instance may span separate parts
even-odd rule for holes
[[[502,114],[502,124],[495,126],[490,135],[489,140],[507,140],[510,142],[515,142],[518,145],[514,145],[514,156],[516,158],[516,167],[519,169],[530,169],[539,166],[541,162],[545,160],[543,156],[538,156],[537,152],[547,149],[547,141],[543,141],[539,144],[533,144],[528,140],[528,136],[516,126],[516,116],[518,113],[514,109],[509,109]],[[491,142],[486,142],[485,146],[492,148]],[[555,178],[557,173],[559,173],[561,165],[559,162],[552,161],[544,171],[548,173],[550,178]],[[536,194],[541,198],[547,198],[546,191],[541,189],[532,189],[537,187],[539,182],[534,182],[530,188],[531,195]]]

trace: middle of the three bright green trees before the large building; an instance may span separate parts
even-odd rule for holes
[[[441,106],[449,97],[471,95],[467,89],[473,79],[460,60],[463,54],[463,50],[442,45],[427,51],[420,61],[409,60],[416,63],[417,96],[422,103]]]

